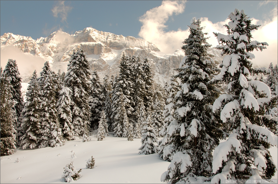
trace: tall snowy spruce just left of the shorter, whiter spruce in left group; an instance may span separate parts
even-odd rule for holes
[[[60,84],[55,73],[50,69],[49,62],[44,63],[43,71],[38,79],[42,102],[40,108],[41,140],[39,148],[62,146],[64,139],[61,136],[59,116],[56,108]]]

